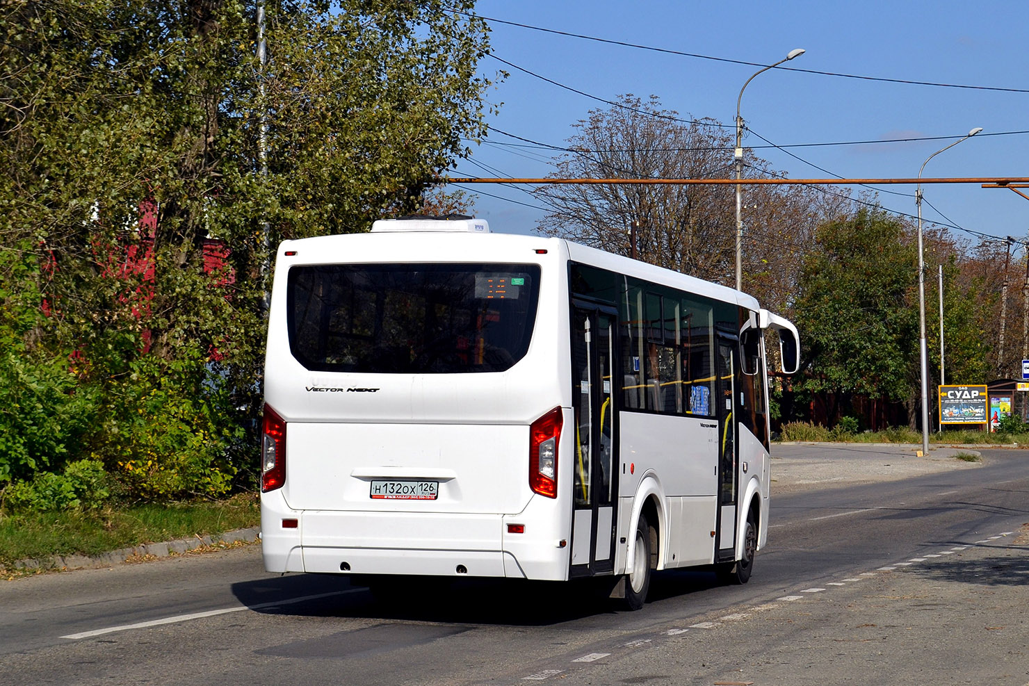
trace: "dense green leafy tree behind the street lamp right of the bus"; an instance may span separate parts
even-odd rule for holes
[[[804,389],[833,394],[846,406],[855,394],[902,402],[916,427],[921,401],[918,253],[914,227],[881,209],[820,225],[800,275],[795,322],[801,332]],[[930,236],[930,238],[932,238]],[[961,287],[959,246],[936,233],[927,263],[945,266],[945,331],[952,378],[983,383],[988,347],[974,316],[977,292]],[[927,280],[927,335],[938,336]],[[930,399],[938,376],[938,347],[928,342]],[[934,365],[934,366],[933,366]],[[975,381],[979,380],[979,381]],[[930,416],[931,416],[930,411]]]

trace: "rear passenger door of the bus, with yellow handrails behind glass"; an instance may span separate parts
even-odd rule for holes
[[[571,576],[614,570],[615,479],[613,310],[575,306],[572,314],[572,455]]]

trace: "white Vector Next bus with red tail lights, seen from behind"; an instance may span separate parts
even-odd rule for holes
[[[739,291],[483,220],[279,247],[264,375],[272,572],[738,583],[766,542],[762,331]]]

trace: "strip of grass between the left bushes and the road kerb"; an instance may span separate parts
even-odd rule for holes
[[[87,512],[0,515],[0,565],[9,568],[26,557],[96,555],[141,543],[256,527],[259,520],[260,508],[253,495]]]

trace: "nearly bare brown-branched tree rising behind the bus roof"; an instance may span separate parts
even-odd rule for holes
[[[687,120],[657,97],[623,96],[575,124],[554,178],[726,178],[734,133],[713,118]],[[745,149],[747,177],[782,177]],[[639,222],[644,261],[724,285],[736,281],[736,189],[732,185],[551,185],[535,191],[551,208],[539,230],[610,252],[631,253]],[[850,209],[849,191],[805,186],[743,187],[743,288],[789,312],[800,259],[815,226]]]

